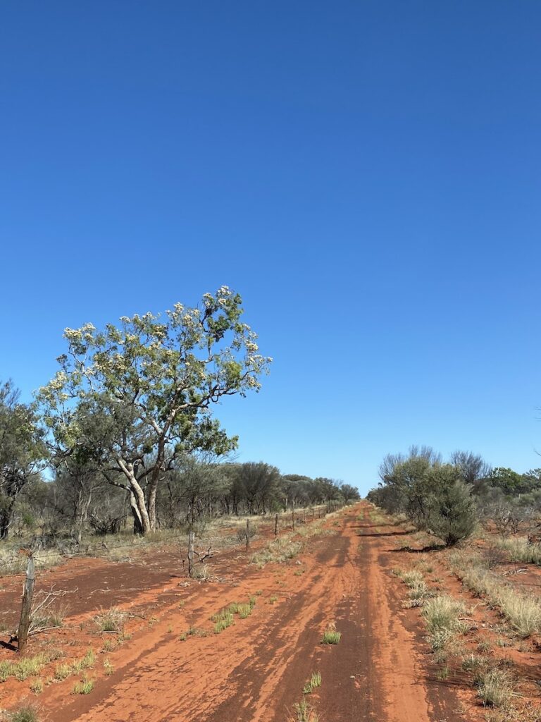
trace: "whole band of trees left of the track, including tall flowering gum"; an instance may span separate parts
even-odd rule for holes
[[[213,409],[260,388],[271,359],[227,287],[197,308],[66,329],[58,373],[24,404],[0,388],[0,539],[140,535],[223,515],[359,498],[349,484],[234,461]]]

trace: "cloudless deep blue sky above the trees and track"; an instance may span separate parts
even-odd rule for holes
[[[541,4],[6,0],[0,377],[227,284],[242,460],[541,466]]]

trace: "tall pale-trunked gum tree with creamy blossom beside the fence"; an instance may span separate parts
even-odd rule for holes
[[[134,531],[156,529],[156,493],[182,454],[237,446],[213,419],[222,396],[258,391],[271,359],[242,323],[242,300],[222,286],[197,308],[120,318],[97,331],[66,329],[68,352],[38,399],[45,424],[68,453],[99,461],[128,492]]]

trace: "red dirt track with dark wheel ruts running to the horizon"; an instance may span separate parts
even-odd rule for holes
[[[321,722],[463,721],[452,690],[428,674],[422,629],[405,618],[400,582],[389,573],[400,529],[374,531],[362,504],[327,526],[335,534],[309,539],[302,564],[258,569],[224,559],[218,566],[229,583],[190,588],[164,572],[161,588],[134,599],[159,604],[159,622],[107,655],[115,672],[98,674],[89,695],[69,695],[67,682],[46,687],[39,697],[45,718],[287,722],[317,670],[322,685],[309,701]],[[211,614],[258,591],[247,619],[237,617],[219,635],[179,639],[190,626],[211,630]],[[320,643],[330,622],[342,632],[338,645]]]

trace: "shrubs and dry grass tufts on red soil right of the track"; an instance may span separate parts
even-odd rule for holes
[[[460,460],[471,462],[470,474]],[[541,599],[520,581],[541,558],[536,534],[541,474],[491,470],[480,457],[464,453],[451,464],[454,471],[445,472],[449,484],[462,490],[454,496],[441,493],[441,469],[449,464],[434,451],[414,448],[408,458],[387,458],[382,484],[370,495],[373,502],[379,497],[384,509],[375,508],[371,520],[382,529],[401,523],[407,530],[395,543],[405,567],[392,571],[407,589],[403,606],[419,609],[437,677],[452,677],[456,684],[465,675],[488,722],[540,722],[540,708],[527,701],[537,698],[529,676],[534,668],[527,669],[541,634]],[[453,507],[467,508],[461,534]],[[390,508],[394,516],[382,519]],[[442,516],[442,510],[444,521],[435,523],[434,514]],[[445,532],[451,522],[453,539]],[[459,591],[453,579],[462,583]],[[524,669],[511,661],[508,648],[524,654]]]

